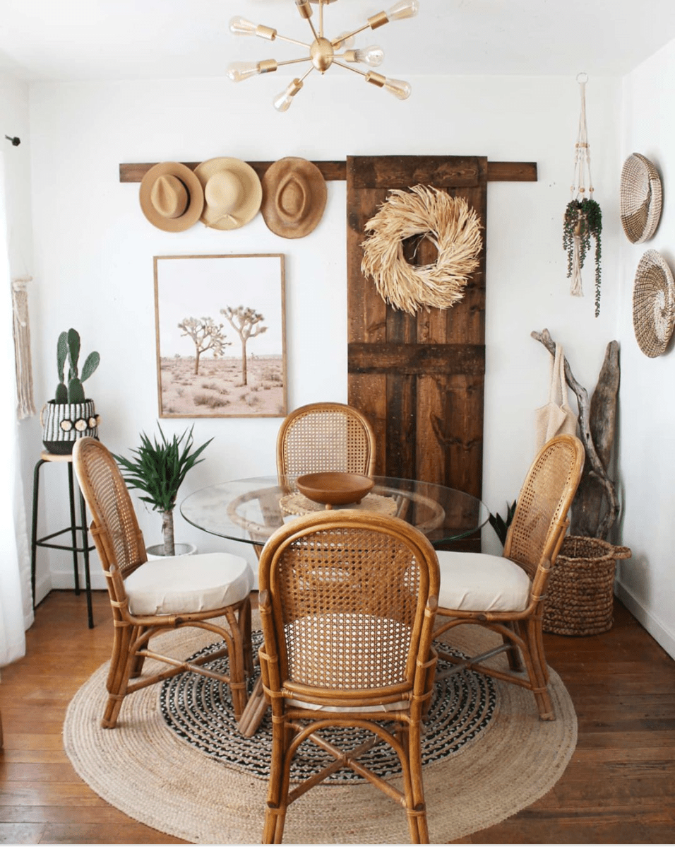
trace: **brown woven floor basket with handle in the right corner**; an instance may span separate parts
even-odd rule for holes
[[[548,579],[545,632],[597,635],[611,629],[617,559],[632,555],[628,547],[568,535]]]

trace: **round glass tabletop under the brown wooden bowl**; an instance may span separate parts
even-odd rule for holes
[[[373,477],[360,503],[333,507],[395,515],[411,523],[438,547],[465,538],[490,516],[486,505],[464,491],[415,479]],[[263,545],[283,523],[324,509],[300,494],[294,477],[252,477],[210,485],[187,496],[180,513],[188,523],[223,538]]]

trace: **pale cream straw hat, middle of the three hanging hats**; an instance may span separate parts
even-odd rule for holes
[[[198,164],[197,179],[204,188],[200,220],[214,230],[238,230],[261,208],[261,180],[247,162],[213,158]]]

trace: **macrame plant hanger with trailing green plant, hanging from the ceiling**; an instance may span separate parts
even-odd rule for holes
[[[579,133],[574,145],[574,174],[571,199],[563,219],[563,248],[568,254],[568,278],[571,278],[570,293],[584,296],[581,284],[581,268],[590,251],[590,239],[595,239],[595,317],[600,314],[601,283],[601,208],[593,199],[593,179],[590,175],[590,144],[586,127],[586,83],[588,75],[577,75],[581,94]]]

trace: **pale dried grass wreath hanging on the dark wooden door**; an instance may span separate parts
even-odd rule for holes
[[[372,277],[392,307],[415,314],[421,307],[447,309],[464,296],[482,247],[475,209],[426,185],[395,189],[365,224],[361,271]],[[415,267],[403,257],[403,239],[425,235],[436,246],[436,263]]]

